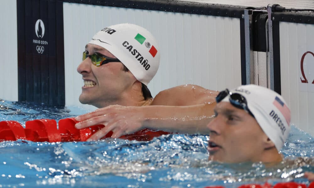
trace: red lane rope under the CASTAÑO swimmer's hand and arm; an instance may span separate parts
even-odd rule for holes
[[[78,123],[78,121],[74,118],[61,119],[58,123],[58,129],[56,120],[52,119],[35,119],[27,121],[25,123],[25,128],[23,128],[17,121],[2,121],[0,122],[0,141],[15,141],[18,139],[25,139],[33,142],[86,141],[90,136],[105,127],[104,125],[94,125],[89,128],[77,129],[75,128],[76,123]],[[120,138],[146,141],[163,134],[170,133],[145,128]],[[111,137],[111,135],[112,132],[109,132],[103,138]]]

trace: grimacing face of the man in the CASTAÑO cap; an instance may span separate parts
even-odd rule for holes
[[[105,48],[87,44],[85,51],[89,55],[95,53],[117,59]],[[118,60],[117,60],[118,61]],[[82,104],[91,104],[95,107],[103,107],[102,103],[116,102],[136,78],[130,72],[123,71],[122,63],[106,63],[99,67],[93,65],[91,58],[84,59],[77,68],[78,73],[83,76],[84,86],[79,96]]]

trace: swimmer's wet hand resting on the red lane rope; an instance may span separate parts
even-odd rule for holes
[[[79,123],[76,123],[75,127],[81,129],[93,125],[105,125],[87,141],[99,140],[110,131],[113,132],[112,138],[119,138],[143,128],[144,116],[140,110],[140,107],[111,105],[76,117]]]

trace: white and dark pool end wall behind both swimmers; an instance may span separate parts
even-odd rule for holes
[[[222,90],[254,83],[281,93],[292,123],[314,135],[311,11],[208,1],[1,3],[7,8],[0,13],[0,98],[94,110],[78,102],[83,81],[76,68],[84,46],[100,29],[128,22],[148,29],[159,41],[160,69],[149,83],[153,96],[181,84]],[[44,27],[45,36],[40,36]],[[308,83],[302,81],[305,77]]]

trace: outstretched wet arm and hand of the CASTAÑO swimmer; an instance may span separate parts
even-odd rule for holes
[[[103,124],[88,140],[98,140],[110,131],[113,138],[134,133],[143,128],[151,128],[176,133],[208,134],[207,123],[214,115],[215,103],[191,106],[144,106],[125,107],[112,105],[78,116],[76,128],[86,128]]]

